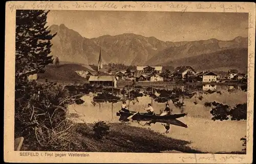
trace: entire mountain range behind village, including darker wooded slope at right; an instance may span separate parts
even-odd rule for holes
[[[60,61],[97,64],[99,51],[103,63],[125,65],[191,65],[196,69],[232,68],[246,71],[248,38],[170,42],[136,34],[104,35],[84,38],[64,24],[52,25],[51,55]],[[239,61],[237,61],[239,60]],[[205,65],[205,66],[204,66]]]

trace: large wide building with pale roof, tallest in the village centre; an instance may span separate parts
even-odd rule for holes
[[[137,66],[136,73],[137,76],[142,74],[160,74],[162,73],[163,67],[162,66]]]

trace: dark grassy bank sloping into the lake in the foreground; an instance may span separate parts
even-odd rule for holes
[[[133,127],[124,123],[111,123],[109,125],[110,133],[105,135],[103,139],[97,140],[94,138],[92,124],[75,124],[70,131],[75,138],[70,139],[72,144],[69,150],[64,151],[160,153],[176,150],[184,153],[203,153],[189,148],[187,141],[172,139],[150,129]],[[25,139],[22,150],[36,151],[38,149],[44,150]]]

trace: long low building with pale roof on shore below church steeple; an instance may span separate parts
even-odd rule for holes
[[[89,78],[89,84],[93,86],[112,86],[117,88],[117,79],[115,76],[91,75]]]

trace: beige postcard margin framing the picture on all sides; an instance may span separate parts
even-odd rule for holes
[[[80,7],[84,2],[7,2],[5,31],[5,103],[4,159],[6,162],[129,162],[129,163],[252,163],[255,3],[244,2],[97,2],[97,8]],[[95,3],[95,2],[88,2]],[[110,5],[108,5],[110,3]],[[105,5],[106,4],[106,5]],[[130,6],[129,6],[130,5]],[[179,11],[185,12],[244,12],[249,13],[248,36],[248,114],[247,154],[179,154],[179,153],[94,153],[89,157],[20,156],[14,144],[14,72],[15,72],[15,10],[116,10],[116,11]],[[36,152],[34,152],[36,153]],[[41,152],[38,152],[39,154]],[[45,152],[44,152],[45,153]],[[53,152],[60,153],[60,152]],[[68,152],[61,152],[68,153]]]

